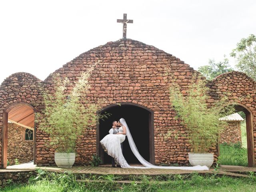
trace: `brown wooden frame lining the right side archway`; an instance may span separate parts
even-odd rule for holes
[[[243,104],[232,103],[235,108],[235,112],[244,112],[246,120],[246,137],[247,137],[247,156],[248,156],[248,166],[255,166],[255,156],[254,156],[254,135],[253,135],[253,116],[252,111]],[[220,145],[218,144],[218,154],[220,154]]]

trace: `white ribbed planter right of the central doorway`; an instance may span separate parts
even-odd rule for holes
[[[213,164],[213,154],[188,153],[188,161],[192,166],[206,165],[208,168],[210,168],[210,166]]]

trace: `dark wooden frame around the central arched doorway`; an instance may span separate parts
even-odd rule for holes
[[[155,164],[155,146],[154,146],[154,111],[150,110],[149,108],[135,104],[132,102],[120,102],[117,104],[110,104],[108,106],[105,106],[102,108],[102,110],[98,111],[97,114],[100,114],[102,112],[105,112],[106,110],[109,110],[110,108],[119,107],[119,104],[121,106],[136,106],[139,108],[143,108],[149,112],[149,150],[150,150],[150,163]],[[100,124],[98,123],[96,126],[96,153],[98,156],[100,156]]]

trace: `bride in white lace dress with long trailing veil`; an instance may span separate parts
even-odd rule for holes
[[[207,166],[193,166],[193,167],[174,167],[174,166],[155,166],[147,162],[138,152],[138,149],[132,139],[132,135],[130,134],[129,128],[123,118],[120,119],[120,124],[122,125],[119,128],[119,132],[117,134],[108,134],[101,141],[101,145],[103,149],[108,153],[108,155],[112,156],[122,168],[158,168],[158,169],[182,169],[182,170],[209,170]],[[124,142],[125,137],[127,136],[130,148],[136,158],[140,161],[144,167],[140,166],[130,166],[123,154],[120,143]]]

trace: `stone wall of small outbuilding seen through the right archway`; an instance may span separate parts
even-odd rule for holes
[[[238,143],[242,144],[241,122],[230,121],[228,126],[220,133],[220,143]]]

